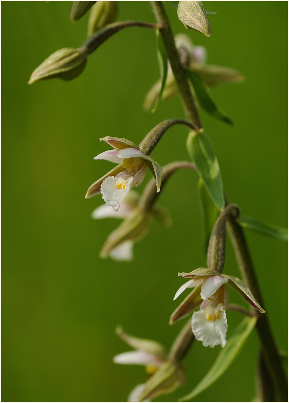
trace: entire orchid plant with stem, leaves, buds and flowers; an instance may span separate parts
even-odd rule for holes
[[[172,5],[177,8],[176,18],[179,18],[186,29],[192,29],[206,37],[211,35],[208,15],[214,13],[205,11],[202,2],[168,3],[168,7]],[[263,309],[263,299],[242,226],[283,240],[286,239],[286,231],[276,230],[276,227],[264,223],[260,225],[257,220],[242,216],[236,205],[229,204],[224,195],[217,157],[210,138],[202,127],[198,112],[200,106],[213,117],[231,124],[229,117],[212,99],[208,87],[240,82],[243,76],[227,67],[207,65],[205,48],[193,45],[190,35],[180,33],[173,36],[163,2],[151,2],[151,5],[156,24],[137,21],[114,22],[117,16],[116,6],[111,2],[74,2],[72,21],[78,21],[90,10],[89,38],[79,49],[64,48],[52,54],[33,72],[30,79],[31,84],[55,77],[72,80],[84,71],[88,56],[112,35],[128,27],[143,27],[157,33],[160,62],[160,79],[148,91],[144,109],[155,111],[159,102],[176,93],[181,97],[186,120],[168,119],[159,123],[139,145],[131,139],[121,137],[100,138],[112,149],[94,157],[95,160],[104,159],[117,165],[95,181],[86,193],[86,198],[101,193],[105,203],[93,211],[92,218],[123,219],[121,225],[105,242],[100,254],[102,258],[109,256],[116,261],[130,261],[133,259],[134,243],[148,233],[152,218],[165,226],[171,224],[169,213],[156,201],[160,191],[163,192],[164,184],[179,169],[190,169],[199,176],[200,198],[208,230],[207,268],[201,267],[178,274],[189,280],[178,289],[174,300],[186,289],[192,288],[192,291],[172,313],[170,324],[187,315],[192,317],[172,343],[169,352],[156,341],[136,338],[117,328],[117,334],[134,351],[118,354],[113,360],[118,364],[145,366],[148,380],[133,389],[129,401],[148,401],[172,392],[183,383],[185,368],[182,360],[190,352],[194,339],[201,341],[204,347],[220,345],[222,350],[216,364],[208,371],[203,381],[194,385],[192,392],[182,398],[189,400],[222,375],[239,353],[251,330],[256,327],[261,344],[262,364],[259,366],[258,376],[262,378],[266,373],[266,388],[259,390],[259,399],[268,401],[266,390],[269,389],[276,401],[286,401],[286,377],[268,317]],[[197,36],[195,38],[197,40]],[[189,129],[187,149],[192,162],[177,161],[161,167],[149,154],[164,133],[178,124]],[[140,195],[132,189],[141,188],[147,167],[153,177]],[[222,274],[226,230],[233,244],[242,279]],[[231,285],[237,290],[250,304],[251,309],[228,304],[226,285]],[[228,340],[226,309],[237,310],[245,316],[234,336]]]

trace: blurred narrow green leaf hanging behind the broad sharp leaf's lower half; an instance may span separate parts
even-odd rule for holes
[[[207,255],[210,236],[218,218],[218,209],[213,203],[202,178],[198,182],[198,195],[200,200],[201,214],[203,218],[203,244],[204,254]]]

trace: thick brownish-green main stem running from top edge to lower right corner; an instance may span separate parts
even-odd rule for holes
[[[160,33],[162,35],[167,56],[175,76],[186,118],[189,122],[200,128],[201,123],[198,111],[175,46],[172,29],[163,3],[151,2],[151,4],[157,22],[162,27],[160,29]],[[243,230],[233,218],[229,220],[228,228],[244,280],[261,306],[264,306]],[[266,314],[258,314],[256,328],[262,344],[266,364],[274,381],[276,391],[281,401],[287,401],[286,376]]]

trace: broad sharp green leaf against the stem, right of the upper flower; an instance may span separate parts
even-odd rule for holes
[[[218,209],[225,206],[223,182],[217,157],[209,136],[201,129],[191,131],[187,139],[188,153]]]

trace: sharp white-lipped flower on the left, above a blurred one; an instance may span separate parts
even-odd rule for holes
[[[86,198],[102,193],[107,206],[111,206],[117,212],[129,190],[142,183],[147,166],[156,179],[157,192],[160,191],[162,168],[144,154],[138,145],[120,137],[106,136],[100,138],[100,141],[107,142],[114,150],[104,151],[94,159],[106,159],[118,165],[89,187]]]

